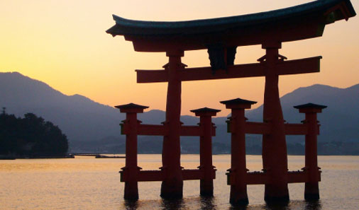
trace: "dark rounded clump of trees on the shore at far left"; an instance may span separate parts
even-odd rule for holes
[[[47,122],[33,113],[28,113],[23,118],[1,113],[1,155],[64,155],[67,148],[67,136],[52,122]]]

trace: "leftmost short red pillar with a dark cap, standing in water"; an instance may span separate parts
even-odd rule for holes
[[[126,113],[123,126],[128,129],[126,134],[126,165],[121,168],[121,176],[125,177],[125,192],[123,198],[126,200],[138,199],[138,172],[141,168],[137,165],[137,130],[140,123],[137,113],[142,113],[148,108],[133,103],[116,106],[122,113]]]

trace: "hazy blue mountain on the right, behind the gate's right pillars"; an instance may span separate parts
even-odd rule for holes
[[[281,99],[283,115],[287,122],[298,123],[304,119],[294,105],[316,103],[328,106],[318,114],[321,124],[319,141],[359,142],[359,84],[350,88],[333,88],[314,85],[298,88]],[[250,120],[261,121],[263,105],[247,112]]]

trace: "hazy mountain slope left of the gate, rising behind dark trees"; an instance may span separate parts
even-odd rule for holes
[[[118,135],[123,118],[113,107],[82,95],[64,95],[17,72],[0,74],[0,105],[21,116],[27,112],[57,124],[72,141],[96,141]]]

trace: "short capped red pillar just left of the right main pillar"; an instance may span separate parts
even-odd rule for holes
[[[245,161],[245,116],[244,110],[250,109],[256,102],[237,98],[221,101],[227,109],[231,109],[231,168],[228,169],[228,180],[231,185],[229,202],[233,205],[248,204]]]

